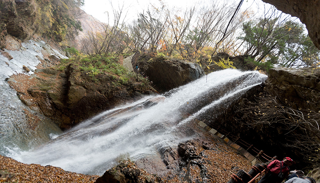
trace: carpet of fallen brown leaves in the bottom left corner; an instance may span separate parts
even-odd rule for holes
[[[0,182],[23,183],[93,183],[98,175],[83,175],[64,171],[59,167],[41,166],[39,164],[24,164],[0,155]]]

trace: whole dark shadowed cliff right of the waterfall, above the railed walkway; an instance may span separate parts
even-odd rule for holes
[[[231,132],[269,156],[292,157],[297,162],[294,168],[317,167],[319,69],[269,71],[265,84],[249,90],[220,115],[208,113],[203,118],[209,126]]]

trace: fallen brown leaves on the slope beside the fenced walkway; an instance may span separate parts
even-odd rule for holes
[[[251,169],[250,161],[240,152],[229,146],[218,136],[211,135],[203,129],[196,127],[201,136],[193,140],[196,151],[195,154],[200,158],[194,159],[194,163],[189,164],[188,169],[180,171],[180,175],[173,176],[168,179],[162,177],[166,183],[185,183],[185,182],[228,182],[232,173],[237,173],[240,169],[248,172]],[[204,144],[210,148],[204,149]],[[205,172],[200,171],[198,164],[201,164]],[[189,171],[189,173],[188,173]],[[206,174],[203,176],[203,174]],[[169,177],[169,176],[167,176]],[[205,177],[205,179],[202,179]]]

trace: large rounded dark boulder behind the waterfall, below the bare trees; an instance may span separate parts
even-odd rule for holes
[[[205,75],[197,63],[146,54],[138,58],[137,65],[160,91],[168,91]]]

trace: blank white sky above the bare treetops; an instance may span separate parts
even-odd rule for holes
[[[167,4],[169,8],[186,8],[194,5],[195,2],[199,2],[199,0],[85,0],[83,9],[99,21],[107,23],[108,18],[105,12],[109,12],[110,18],[113,16],[111,4],[115,9],[118,9],[119,5],[124,5],[125,12],[128,11],[128,15],[125,20],[132,21],[137,18],[138,13],[142,12],[143,9],[146,10],[150,4],[159,6],[160,1]],[[210,0],[202,0],[200,1],[200,4],[206,4],[208,1]],[[240,2],[240,0],[231,0],[230,2],[232,1],[236,4]],[[254,10],[257,7],[256,4],[263,4],[263,2],[261,0],[245,0],[242,4],[242,9],[251,7],[252,10]]]

